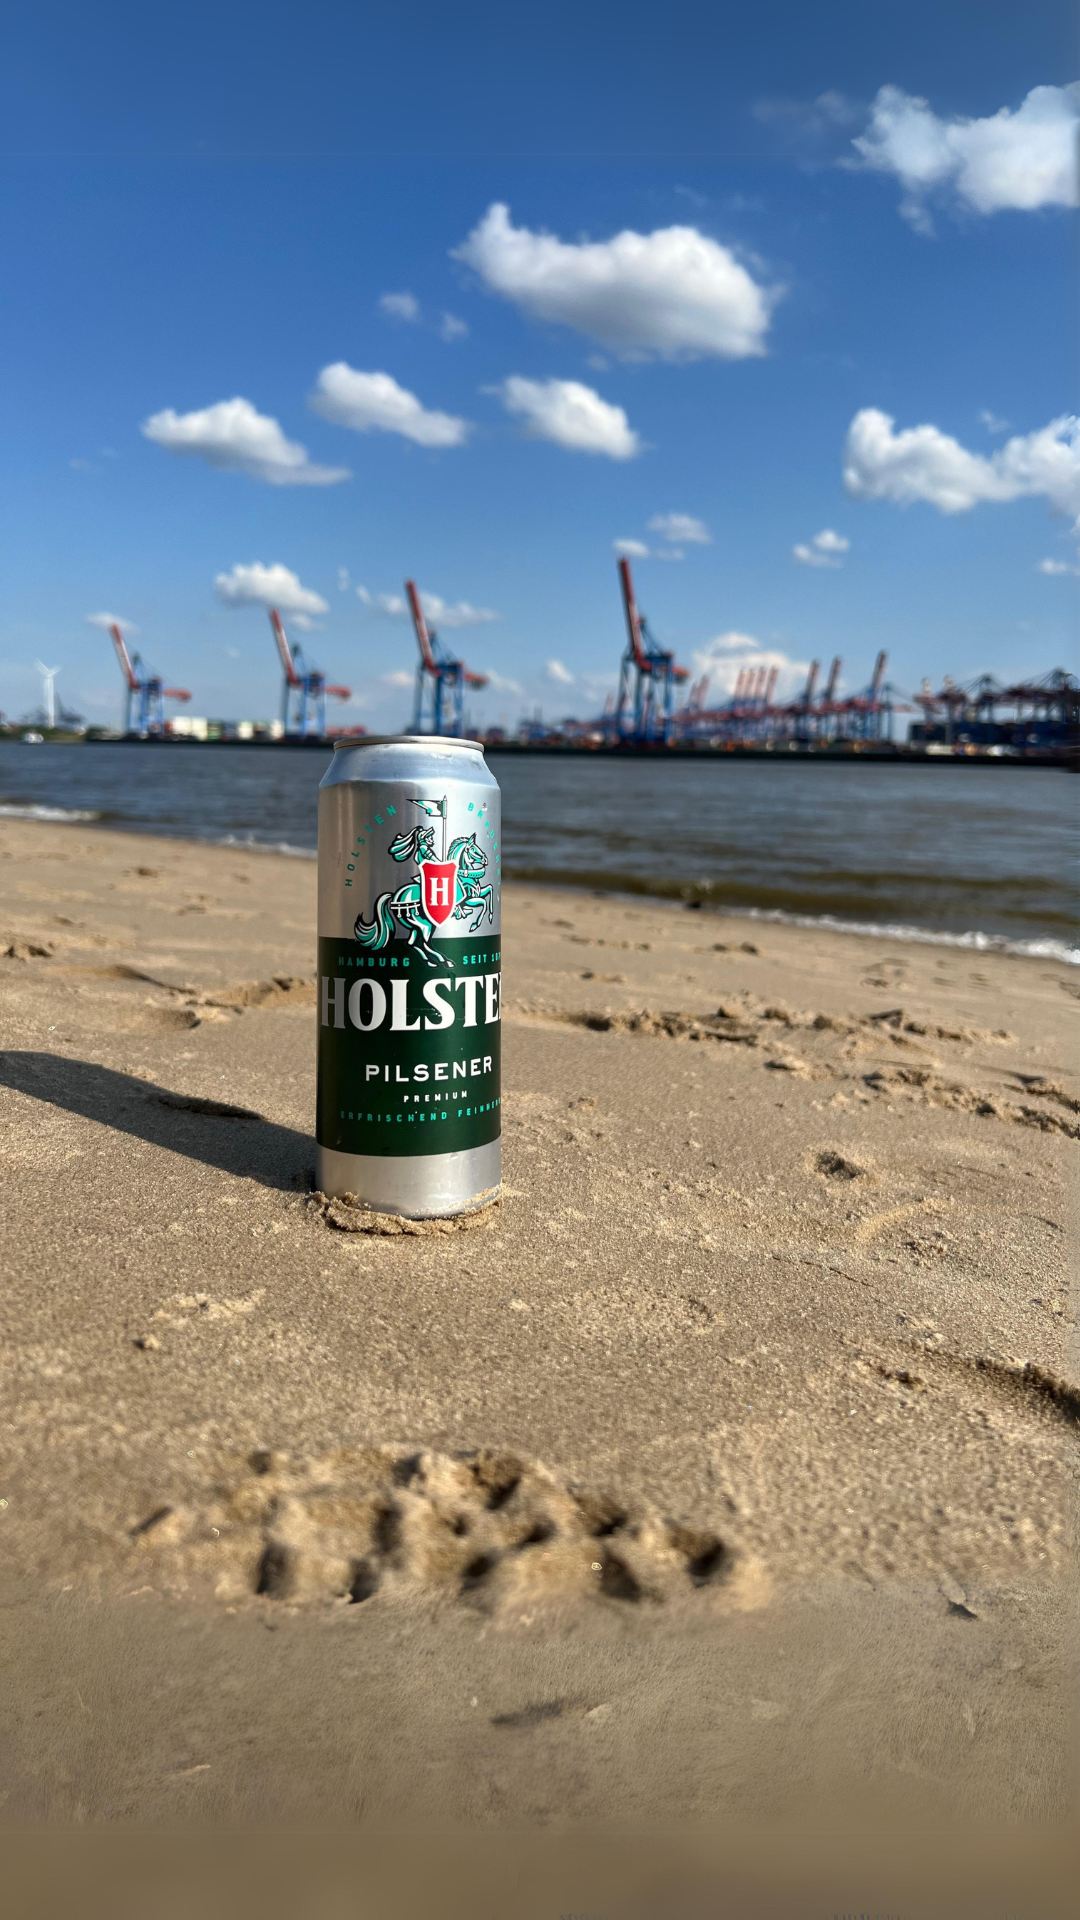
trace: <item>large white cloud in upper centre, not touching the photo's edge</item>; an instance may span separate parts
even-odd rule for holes
[[[765,351],[776,288],[696,227],[567,244],[511,227],[494,204],[454,259],[536,321],[575,326],[623,359],[746,359]]]

